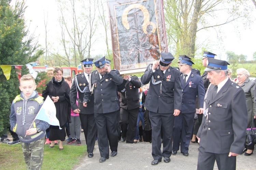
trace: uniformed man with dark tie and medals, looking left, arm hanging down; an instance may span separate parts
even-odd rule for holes
[[[181,146],[181,153],[188,156],[188,147],[194,125],[196,97],[199,99],[199,114],[203,113],[204,87],[200,75],[191,71],[194,63],[188,58],[181,58],[179,63],[182,86],[182,107],[179,116],[175,117],[173,127],[172,154]]]

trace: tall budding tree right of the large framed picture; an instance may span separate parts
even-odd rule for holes
[[[233,3],[235,1],[235,3]],[[199,46],[196,45],[200,30],[216,28],[246,17],[248,10],[243,10],[246,0],[167,0],[165,21],[168,44],[171,42],[177,53],[195,56]],[[225,15],[221,15],[225,14]]]

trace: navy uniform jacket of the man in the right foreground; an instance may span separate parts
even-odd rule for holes
[[[212,98],[214,86],[204,100],[208,120],[203,116],[197,136],[205,152],[242,154],[247,127],[247,109],[243,89],[230,79]]]

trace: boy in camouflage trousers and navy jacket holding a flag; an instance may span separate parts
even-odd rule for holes
[[[38,95],[36,88],[32,75],[23,75],[19,86],[22,92],[15,97],[11,105],[11,130],[17,133],[20,139],[27,169],[41,169],[44,133],[49,128],[47,122],[35,119],[43,105],[43,97]]]

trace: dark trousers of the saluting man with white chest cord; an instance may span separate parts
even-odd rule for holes
[[[161,160],[172,154],[172,130],[174,124],[173,113],[154,113],[149,111],[152,127],[152,156]],[[163,151],[161,152],[161,127],[163,130]]]

